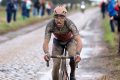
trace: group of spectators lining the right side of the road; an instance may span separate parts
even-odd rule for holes
[[[120,39],[120,0],[103,1],[101,3],[101,12],[103,14],[103,18],[105,18],[105,13],[107,12],[110,20],[111,32],[114,33],[115,26],[117,26],[118,39]],[[120,53],[120,45],[118,53]]]

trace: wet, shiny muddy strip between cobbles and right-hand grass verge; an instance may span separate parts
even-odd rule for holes
[[[81,53],[82,60],[77,69],[77,74],[80,75],[78,80],[102,80],[103,76],[110,73],[108,69],[109,58],[108,48],[103,40],[104,30],[101,26],[100,15],[92,19],[88,26],[80,32],[84,47]],[[110,78],[107,76],[107,79]],[[103,79],[103,80],[107,80]]]

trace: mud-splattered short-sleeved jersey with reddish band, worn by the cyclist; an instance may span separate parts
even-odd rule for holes
[[[51,20],[46,26],[45,39],[50,39],[52,33],[56,39],[63,42],[70,40],[75,35],[79,35],[79,31],[77,30],[75,24],[67,18],[65,20],[65,25],[61,29],[58,29],[54,20]]]

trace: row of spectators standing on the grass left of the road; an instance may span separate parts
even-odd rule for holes
[[[23,19],[29,18],[32,12],[33,16],[44,16],[45,12],[51,15],[53,4],[50,0],[8,0],[6,4],[6,19],[10,23],[11,20],[16,21],[18,9],[21,10]]]

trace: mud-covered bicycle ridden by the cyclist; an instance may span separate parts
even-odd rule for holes
[[[61,59],[59,80],[70,80],[67,72],[66,59],[74,59],[74,57],[66,56],[66,47],[64,48],[63,55],[50,56],[50,58]],[[49,61],[47,61],[47,67],[49,67]]]

